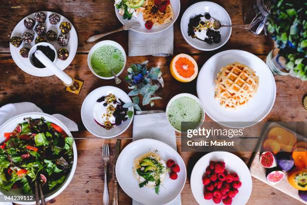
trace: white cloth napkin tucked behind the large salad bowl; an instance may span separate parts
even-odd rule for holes
[[[30,112],[43,113],[42,109],[37,107],[32,102],[18,102],[2,106],[0,108],[0,125],[17,115]],[[64,125],[68,128],[69,131],[78,131],[78,125],[74,121],[60,114],[54,114],[52,116],[64,123]]]

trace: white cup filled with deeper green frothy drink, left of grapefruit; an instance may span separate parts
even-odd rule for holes
[[[114,74],[118,76],[122,73],[126,64],[126,53],[115,41],[100,41],[91,48],[87,62],[97,77],[113,79]]]

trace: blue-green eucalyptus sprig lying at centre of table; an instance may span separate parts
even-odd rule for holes
[[[153,96],[155,92],[159,89],[157,84],[152,84],[152,80],[158,80],[162,76],[161,69],[158,67],[151,67],[149,71],[147,70],[148,61],[141,64],[131,65],[127,71],[128,75],[125,76],[125,80],[129,83],[129,88],[132,89],[128,95],[133,96],[132,102],[127,102],[123,107],[130,108],[134,107],[135,110],[140,111],[138,106],[140,98],[142,97],[142,105],[154,106],[156,99],[162,99],[159,96]]]

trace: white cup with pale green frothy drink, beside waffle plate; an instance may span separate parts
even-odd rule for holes
[[[205,120],[205,112],[198,97],[189,93],[175,95],[166,109],[167,119],[177,132],[187,132],[187,129],[197,129]],[[182,128],[182,122],[188,122]]]

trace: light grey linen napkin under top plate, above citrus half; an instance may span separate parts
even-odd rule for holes
[[[142,34],[129,30],[129,56],[170,56],[174,50],[174,26],[156,34]]]

